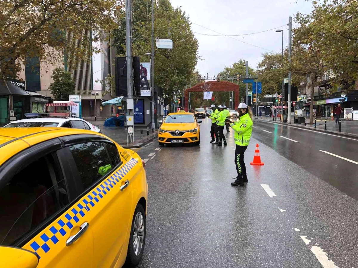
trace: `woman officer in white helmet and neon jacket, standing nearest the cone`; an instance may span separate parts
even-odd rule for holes
[[[233,123],[230,119],[226,120],[235,131],[234,140],[236,149],[234,161],[236,165],[237,177],[234,178],[235,182],[232,182],[231,185],[244,186],[244,182],[247,182],[244,153],[250,143],[252,133],[252,111],[245,103],[240,103],[236,111],[240,115],[239,121]]]

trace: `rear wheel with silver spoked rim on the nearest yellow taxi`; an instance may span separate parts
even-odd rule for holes
[[[131,235],[129,237],[127,259],[125,263],[127,267],[138,265],[142,258],[145,235],[146,222],[144,208],[141,204],[137,204],[132,220]]]

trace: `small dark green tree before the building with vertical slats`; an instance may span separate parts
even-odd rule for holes
[[[70,72],[57,67],[53,70],[51,78],[53,82],[49,86],[50,93],[55,100],[68,100],[68,95],[74,93],[76,83]]]

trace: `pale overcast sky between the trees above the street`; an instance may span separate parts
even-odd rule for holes
[[[257,63],[262,59],[262,53],[270,50],[281,52],[282,33],[276,33],[275,30],[285,30],[284,46],[288,46],[288,26],[286,24],[289,16],[293,17],[297,12],[306,14],[311,11],[311,1],[294,1],[170,0],[174,8],[182,6],[182,10],[192,22],[192,31],[199,41],[199,56],[204,59],[198,61],[197,69],[201,75],[205,76],[207,73],[209,76],[217,75],[226,66],[231,66],[240,59],[248,60],[248,64],[252,68],[256,68]],[[235,39],[252,45],[226,36],[202,35],[219,35],[218,33],[239,35],[272,28],[275,29],[264,33],[233,36]]]

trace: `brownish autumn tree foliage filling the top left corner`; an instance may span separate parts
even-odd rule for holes
[[[89,59],[99,52],[91,41],[100,41],[115,28],[122,6],[121,0],[1,1],[0,78],[16,77],[28,58],[63,63],[66,51],[73,59]],[[89,32],[91,40],[86,40],[84,33]]]

